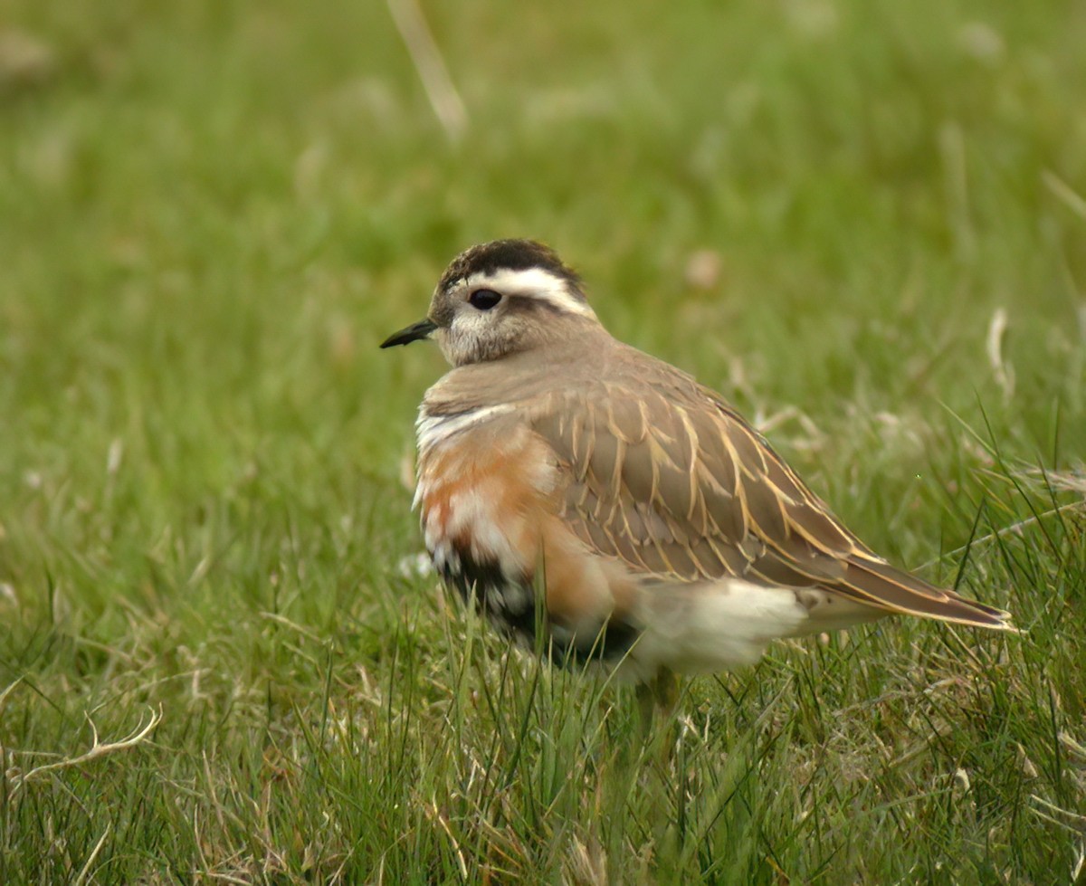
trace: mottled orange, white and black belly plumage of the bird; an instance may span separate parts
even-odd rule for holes
[[[622,570],[561,522],[561,466],[539,436],[526,428],[458,433],[424,450],[418,483],[434,568],[503,633],[532,645],[542,624],[561,659],[622,655],[636,638],[623,618]]]

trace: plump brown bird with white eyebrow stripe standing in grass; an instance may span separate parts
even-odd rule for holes
[[[540,242],[457,255],[380,346],[421,340],[452,366],[416,422],[426,547],[521,646],[664,706],[678,674],[884,616],[1015,630],[873,553],[720,394],[615,339]]]

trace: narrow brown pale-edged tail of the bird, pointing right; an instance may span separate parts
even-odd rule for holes
[[[1021,633],[1011,624],[1010,612],[936,587],[882,560],[851,557],[844,566],[845,574],[832,590],[858,603],[887,612]]]

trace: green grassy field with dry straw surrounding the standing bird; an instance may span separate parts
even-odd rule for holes
[[[0,883],[1086,882],[1086,7],[426,14],[459,138],[376,0],[0,0]],[[1027,633],[780,644],[648,741],[509,654],[377,350],[509,236]]]

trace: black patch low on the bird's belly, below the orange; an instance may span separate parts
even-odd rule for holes
[[[473,560],[463,552],[452,557],[434,558],[434,568],[445,584],[456,588],[466,605],[476,610],[505,636],[528,649],[535,648],[539,622],[543,622],[545,650],[556,663],[614,661],[629,651],[640,630],[620,619],[608,619],[601,630],[588,636],[572,634],[552,623],[536,604],[535,587],[530,575],[506,575],[494,560]]]

